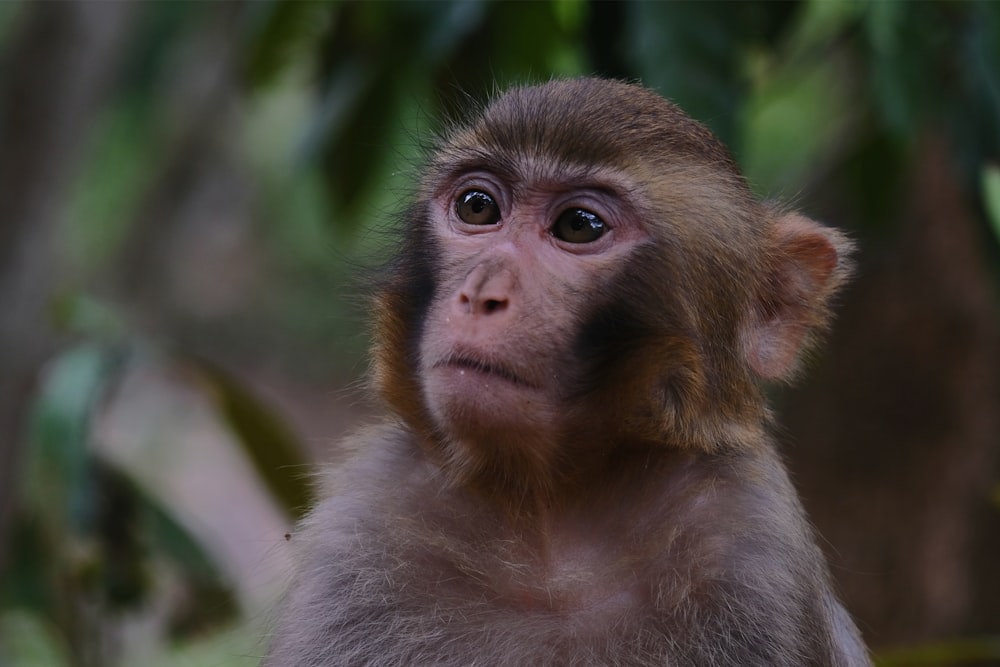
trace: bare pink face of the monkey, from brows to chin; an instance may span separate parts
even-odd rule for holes
[[[550,441],[587,372],[581,319],[648,234],[613,172],[496,164],[448,174],[431,197],[421,389],[452,437]]]

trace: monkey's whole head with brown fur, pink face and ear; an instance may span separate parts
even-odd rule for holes
[[[754,200],[653,92],[511,90],[445,136],[376,301],[375,380],[461,479],[558,476],[623,445],[763,427],[848,243]]]

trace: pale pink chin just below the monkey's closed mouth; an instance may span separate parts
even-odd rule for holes
[[[459,438],[517,437],[553,421],[545,392],[507,373],[441,364],[425,372],[423,389],[435,421]]]

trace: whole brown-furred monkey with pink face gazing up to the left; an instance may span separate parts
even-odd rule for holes
[[[642,87],[516,88],[375,301],[391,417],[293,539],[269,667],[867,665],[769,434],[847,274]]]

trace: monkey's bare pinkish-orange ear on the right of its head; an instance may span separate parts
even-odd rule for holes
[[[791,379],[830,319],[830,302],[851,272],[851,242],[797,213],[769,230],[766,276],[744,332],[750,368],[765,380]]]

